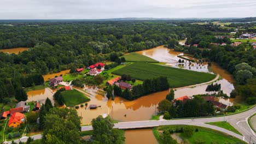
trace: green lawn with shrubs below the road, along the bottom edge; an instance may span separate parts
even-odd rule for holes
[[[176,128],[180,129],[182,127],[187,127],[187,125],[165,125],[165,126],[160,126],[156,127],[153,129],[153,133],[156,137],[156,140],[161,144],[163,143],[161,141],[161,135],[158,133],[158,130],[176,130]],[[209,129],[209,128],[203,128],[203,127],[197,127],[197,126],[189,126],[192,127],[193,129],[198,129],[198,132],[193,133],[191,137],[184,137],[182,134],[179,135],[181,138],[185,141],[185,143],[197,143],[198,141],[201,141],[203,143],[235,143],[235,142],[241,142],[240,139],[237,139],[236,137],[230,136],[228,134],[225,134],[221,131],[217,131],[214,129]],[[180,134],[180,133],[178,133]]]

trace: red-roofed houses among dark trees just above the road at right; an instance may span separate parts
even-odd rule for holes
[[[202,98],[203,98],[203,100],[205,100],[205,101],[211,101],[212,104],[213,104],[217,109],[219,109],[220,111],[225,111],[226,109],[228,109],[228,105],[225,105],[225,104],[223,104],[223,103],[219,103],[219,101],[214,100],[214,97],[213,97],[213,96],[205,96],[205,97],[202,97]],[[190,100],[190,98],[189,98],[187,95],[185,95],[185,96],[183,96],[183,97],[180,97],[180,98],[176,98],[176,99],[172,100],[174,106],[176,106],[176,102],[177,102],[178,100],[181,100],[182,103],[184,104],[187,100]]]

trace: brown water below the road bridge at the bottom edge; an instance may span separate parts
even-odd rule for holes
[[[152,129],[125,130],[126,144],[158,143]]]

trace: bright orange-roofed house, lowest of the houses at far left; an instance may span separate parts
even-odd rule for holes
[[[10,116],[8,127],[16,128],[20,126],[21,123],[25,123],[24,114],[20,112],[15,112],[13,115]]]

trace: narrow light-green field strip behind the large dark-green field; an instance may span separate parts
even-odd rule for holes
[[[147,56],[139,55],[136,52],[131,52],[127,55],[124,55],[126,62],[152,62],[152,63],[158,63],[155,59],[152,59]]]

